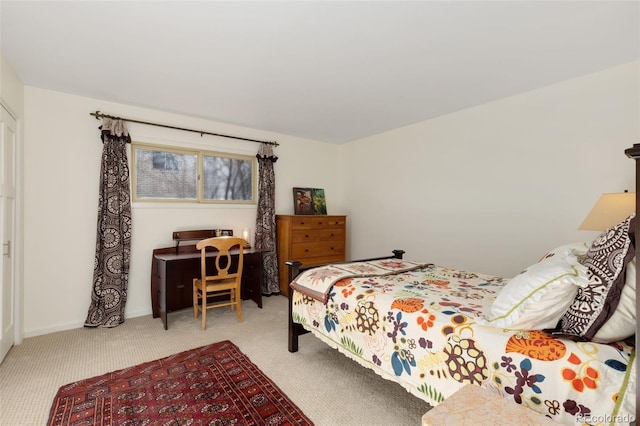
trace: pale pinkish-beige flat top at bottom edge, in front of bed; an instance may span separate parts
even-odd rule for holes
[[[480,386],[466,385],[422,416],[422,426],[558,423]]]

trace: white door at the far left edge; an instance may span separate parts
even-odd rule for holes
[[[0,362],[13,346],[15,336],[16,148],[16,120],[0,105]]]

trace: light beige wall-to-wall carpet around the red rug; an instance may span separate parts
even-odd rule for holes
[[[415,425],[430,406],[401,386],[329,348],[312,334],[287,351],[287,299],[263,298],[263,309],[244,301],[242,323],[220,308],[207,314],[207,330],[192,310],[159,318],[132,318],[113,329],[87,329],[25,339],[0,364],[0,425],[46,425],[58,388],[80,379],[231,340],[316,425]]]

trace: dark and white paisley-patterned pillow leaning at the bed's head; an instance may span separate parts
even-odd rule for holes
[[[635,256],[634,220],[632,213],[593,241],[583,261],[589,285],[578,289],[558,323],[559,333],[591,340],[615,312],[625,284],[625,269]]]

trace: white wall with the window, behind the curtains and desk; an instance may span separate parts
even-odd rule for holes
[[[277,140],[276,212],[292,214],[291,188],[325,188],[329,212],[341,210],[331,196],[339,188],[331,173],[338,147],[287,135],[193,117],[104,102],[27,86],[25,88],[25,274],[26,336],[81,327],[90,303],[102,143],[100,110],[138,120],[259,140]],[[132,139],[255,155],[258,144],[140,124]],[[255,229],[255,205],[215,206],[134,203],[127,317],[151,313],[151,253],[173,245],[177,229]],[[159,325],[160,326],[160,325]]]

